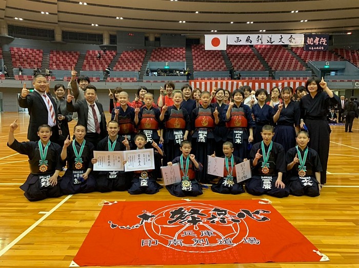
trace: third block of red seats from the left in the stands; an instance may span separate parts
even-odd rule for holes
[[[101,55],[101,58],[97,58],[97,53]],[[85,55],[82,70],[104,71],[108,65],[110,65],[114,56],[116,56],[116,51],[106,51],[106,53],[104,53],[102,50],[88,50]]]

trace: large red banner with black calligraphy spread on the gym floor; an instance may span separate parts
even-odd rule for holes
[[[271,205],[258,201],[118,202],[104,206],[73,264],[321,260],[305,236]]]

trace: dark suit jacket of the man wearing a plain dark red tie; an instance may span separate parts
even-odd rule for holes
[[[99,124],[99,127],[101,129],[100,136],[102,138],[105,138],[107,136],[107,124],[106,124],[106,117],[104,113],[104,108],[102,107],[102,104],[96,101],[96,105],[98,107],[99,113],[101,114],[101,123]],[[78,115],[78,124],[82,124],[86,126],[87,128],[87,117],[89,113],[89,107],[87,106],[86,100],[76,101],[75,104],[72,104],[72,102],[66,102],[66,107],[68,111],[77,111]]]

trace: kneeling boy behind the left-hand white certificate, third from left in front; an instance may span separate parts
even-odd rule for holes
[[[107,124],[108,137],[99,141],[98,151],[125,151],[131,150],[127,138],[118,136],[118,122],[111,120]],[[97,159],[91,160],[92,164]],[[124,171],[98,171],[96,172],[96,190],[99,192],[126,191],[130,187],[130,179]]]

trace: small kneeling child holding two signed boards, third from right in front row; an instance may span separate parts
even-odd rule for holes
[[[223,143],[223,153],[225,158],[224,177],[217,184],[211,186],[213,192],[224,194],[240,194],[244,193],[243,183],[236,182],[235,165],[242,163],[243,159],[233,155],[233,143]],[[215,157],[215,154],[212,154]]]

